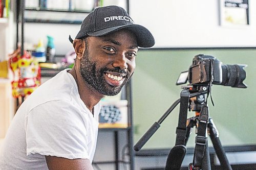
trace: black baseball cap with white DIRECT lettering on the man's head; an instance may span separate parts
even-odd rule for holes
[[[127,12],[118,6],[96,8],[82,21],[76,39],[87,36],[103,36],[124,28],[135,34],[138,46],[152,47],[155,44],[151,32],[145,27],[135,24]],[[71,37],[69,40],[73,43]]]

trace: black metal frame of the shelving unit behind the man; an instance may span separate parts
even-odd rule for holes
[[[129,13],[129,0],[126,0],[126,11]],[[68,10],[53,10],[53,9],[41,9],[41,8],[25,8],[25,0],[16,1],[16,41],[19,40],[19,34],[21,34],[21,48],[22,48],[22,55],[24,51],[24,23],[25,22],[32,22],[32,23],[57,23],[57,24],[81,24],[81,20],[40,20],[40,19],[26,19],[24,16],[25,11],[33,11],[33,12],[58,12],[58,13],[69,13],[69,14],[89,14],[91,11],[68,11]],[[21,25],[21,31],[19,33],[19,24]],[[41,77],[53,77],[58,74],[59,71],[63,70],[64,68],[59,69],[50,69],[50,68],[41,68]],[[132,81],[132,80],[131,80]],[[95,164],[115,164],[115,169],[119,169],[119,163],[130,164],[130,169],[134,170],[134,150],[133,150],[133,117],[132,117],[132,83],[131,81],[127,83],[125,86],[125,96],[128,101],[127,103],[127,118],[128,118],[128,127],[127,128],[100,128],[99,132],[101,131],[111,131],[114,132],[114,140],[115,140],[115,160],[113,161],[97,161],[93,162]],[[127,145],[129,149],[129,161],[123,161],[119,159],[119,132],[126,131],[127,132]]]

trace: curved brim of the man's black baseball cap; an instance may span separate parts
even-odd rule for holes
[[[135,36],[137,37],[137,42],[138,42],[139,47],[152,47],[153,45],[155,45],[155,39],[154,39],[153,35],[151,34],[151,32],[148,31],[145,27],[136,25],[136,24],[106,28],[106,29],[102,29],[102,30],[95,31],[92,33],[88,33],[87,35],[98,37],[98,36],[110,34],[112,32],[115,32],[115,31],[118,31],[118,30],[121,30],[124,28],[132,31],[135,34]],[[82,38],[82,37],[86,36],[86,35],[79,35],[79,33],[78,33],[77,37]]]

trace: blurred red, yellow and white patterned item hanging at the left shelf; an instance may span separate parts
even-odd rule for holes
[[[20,55],[20,49],[9,55],[9,66],[13,72],[12,95],[23,98],[31,94],[41,84],[38,62],[28,52]]]

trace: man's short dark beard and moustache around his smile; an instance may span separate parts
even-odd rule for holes
[[[104,78],[105,71],[113,71],[113,72],[118,72],[120,74],[125,74],[126,76],[123,83],[118,87],[114,87],[106,83],[106,80]],[[132,75],[130,75],[130,71],[128,70],[124,71],[123,69],[117,69],[117,68],[114,68],[114,69],[96,68],[96,63],[91,62],[89,60],[89,52],[87,48],[80,62],[80,73],[83,81],[86,84],[88,84],[90,88],[97,90],[99,93],[103,95],[118,94],[121,91],[122,87],[132,77]]]

